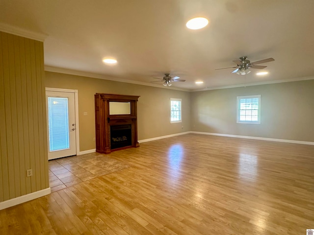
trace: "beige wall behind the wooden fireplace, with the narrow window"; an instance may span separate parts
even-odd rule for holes
[[[190,131],[190,93],[115,82],[104,79],[45,72],[46,87],[78,90],[80,151],[95,149],[94,94],[140,95],[137,102],[138,140]],[[182,123],[170,124],[170,98],[182,99]],[[83,113],[87,112],[87,116]],[[182,129],[183,126],[183,129]]]

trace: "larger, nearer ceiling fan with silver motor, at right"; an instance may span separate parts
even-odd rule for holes
[[[268,59],[259,60],[259,61],[255,61],[255,62],[251,63],[247,59],[246,56],[241,56],[239,59],[240,60],[234,60],[233,61],[236,64],[235,67],[228,67],[228,68],[215,69],[215,70],[224,70],[224,69],[236,68],[231,73],[237,73],[239,75],[245,75],[245,74],[248,74],[249,72],[251,72],[249,69],[260,69],[260,70],[262,70],[262,69],[265,69],[267,67],[267,66],[262,66],[262,65],[258,65],[258,64],[274,61],[273,58],[268,58]]]

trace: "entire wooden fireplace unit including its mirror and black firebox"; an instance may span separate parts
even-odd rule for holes
[[[139,147],[137,101],[139,96],[95,94],[96,152],[108,154]]]

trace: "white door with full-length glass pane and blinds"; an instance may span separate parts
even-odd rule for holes
[[[48,159],[76,155],[74,93],[46,91]]]

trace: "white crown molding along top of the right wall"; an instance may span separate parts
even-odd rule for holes
[[[255,82],[255,83],[249,83],[249,84],[246,83],[246,84],[238,84],[238,85],[230,85],[230,86],[222,86],[222,87],[209,87],[209,88],[204,88],[204,89],[191,90],[191,92],[202,92],[202,91],[228,89],[228,88],[236,88],[236,87],[249,87],[249,86],[267,85],[267,84],[284,83],[284,82],[297,82],[297,81],[305,81],[305,80],[313,80],[313,79],[314,79],[314,76],[297,77],[297,78],[280,79],[280,80],[274,80],[274,81]]]

